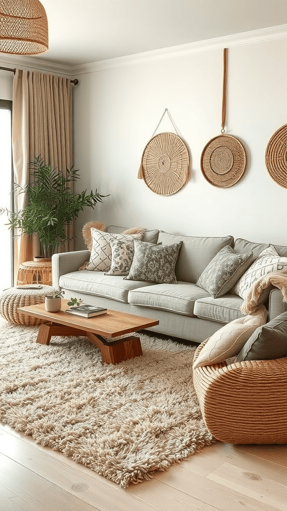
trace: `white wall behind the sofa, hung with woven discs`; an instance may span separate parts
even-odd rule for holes
[[[246,171],[227,189],[209,184],[200,159],[220,134],[223,47],[119,65],[78,76],[75,88],[75,155],[79,191],[110,194],[77,221],[145,226],[192,236],[232,234],[287,245],[287,189],[268,174],[265,150],[287,122],[287,38],[233,45],[228,51],[226,133],[243,143]],[[165,108],[189,147],[190,181],[160,196],[137,179],[142,152]],[[168,115],[157,133],[175,131]]]

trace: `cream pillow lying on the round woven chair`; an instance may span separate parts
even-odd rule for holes
[[[253,314],[226,324],[209,337],[193,368],[217,364],[238,355],[253,332],[266,323],[267,316],[266,308],[261,305]]]

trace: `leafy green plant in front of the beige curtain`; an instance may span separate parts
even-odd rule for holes
[[[103,197],[97,189],[87,193],[73,193],[70,182],[80,179],[79,170],[67,170],[67,176],[56,172],[53,165],[45,165],[41,156],[30,164],[33,182],[22,188],[14,183],[19,193],[27,195],[27,205],[20,211],[8,212],[9,228],[21,234],[36,234],[41,246],[41,256],[51,258],[57,247],[68,239],[65,225],[75,220],[84,207],[94,208]],[[5,210],[0,210],[2,213]]]

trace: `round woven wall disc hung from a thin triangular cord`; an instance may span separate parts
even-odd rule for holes
[[[142,176],[159,195],[172,195],[189,179],[187,147],[174,133],[159,133],[151,138],[141,158]]]

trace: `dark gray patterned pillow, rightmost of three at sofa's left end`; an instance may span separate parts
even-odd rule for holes
[[[175,265],[182,241],[172,245],[155,245],[134,240],[134,257],[129,281],[155,282],[156,284],[176,284]]]

